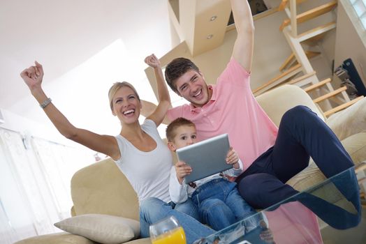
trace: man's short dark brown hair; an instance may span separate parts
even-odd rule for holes
[[[188,70],[196,70],[197,72],[200,72],[196,64],[194,64],[190,59],[177,58],[168,63],[166,66],[165,76],[166,83],[168,83],[170,89],[178,93],[175,82]]]

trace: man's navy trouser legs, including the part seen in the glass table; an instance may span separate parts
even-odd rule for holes
[[[244,176],[246,179],[244,181],[241,180],[239,183],[240,194],[249,204],[262,202],[263,207],[270,206],[276,203],[276,201],[278,202],[291,197],[291,195],[295,195],[296,191],[284,183],[307,167],[309,155],[312,156],[316,165],[327,177],[334,176],[353,167],[351,158],[332,130],[309,108],[297,106],[288,110],[282,117],[277,140],[268,155],[264,158],[260,157],[258,161],[261,162],[254,162],[254,167],[252,167],[259,169],[260,167],[257,167],[257,165],[265,165],[263,171],[273,174],[274,177],[255,174],[248,176],[249,172]],[[346,228],[358,224],[360,220],[360,197],[354,171],[350,170],[344,175],[346,178],[343,178],[342,182],[333,181],[333,183],[344,197],[351,201],[356,211],[358,211],[358,215],[351,215],[346,211],[342,211],[342,209],[333,208],[332,204],[328,205],[329,203],[323,199],[306,193],[298,195],[298,200],[321,218],[322,216],[327,218],[323,215],[327,210],[337,211],[338,215],[344,215],[344,218],[349,219],[348,223],[344,223]],[[242,177],[241,179],[244,178]],[[259,193],[253,192],[252,189],[249,190],[251,192],[246,192],[245,185],[250,181],[253,181],[253,183],[250,183],[251,185],[256,183],[258,186],[261,186]],[[263,194],[268,194],[268,196],[265,197]],[[332,224],[333,220],[328,218],[328,221],[325,220],[325,222]],[[332,225],[342,229],[342,226],[335,222]]]

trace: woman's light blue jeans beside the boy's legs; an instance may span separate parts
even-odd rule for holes
[[[194,206],[191,201],[185,201],[183,204],[178,204],[175,208],[174,205],[175,204],[161,201],[161,199],[156,197],[149,197],[141,201],[140,236],[142,238],[149,237],[149,225],[171,215],[177,218],[180,225],[182,225],[184,233],[186,234],[187,244],[193,243],[193,241],[196,241],[199,238],[203,238],[214,233],[213,229],[206,227],[192,216],[186,214],[193,213],[193,216],[196,215],[197,217],[197,214],[194,213]],[[180,209],[180,211],[186,211],[186,213],[177,211],[177,209]]]

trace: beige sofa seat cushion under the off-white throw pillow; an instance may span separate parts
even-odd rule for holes
[[[42,236],[34,236],[31,238],[17,241],[14,244],[94,244],[94,241],[83,236],[76,236],[70,233],[61,232],[56,234],[47,234]]]

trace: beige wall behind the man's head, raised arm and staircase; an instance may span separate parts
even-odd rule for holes
[[[324,17],[323,21],[330,20],[332,14]],[[292,50],[288,45],[284,34],[279,31],[279,26],[287,18],[284,11],[273,13],[267,17],[260,18],[254,21],[254,57],[251,68],[251,89],[256,89],[258,86],[265,84],[270,79],[280,74],[279,68],[281,64],[290,56]],[[314,23],[313,23],[314,24]],[[302,29],[309,29],[310,26],[302,25]],[[325,36],[327,37],[327,36]],[[226,63],[230,59],[233,51],[233,45],[236,39],[236,30],[228,31],[225,35],[224,42],[216,49],[205,52],[198,56],[190,56],[186,49],[173,49],[166,55],[166,59],[170,61],[177,56],[186,56],[191,59],[200,68],[205,75],[206,82],[215,84],[217,77],[226,67]],[[319,79],[330,77],[332,74],[331,62],[334,58],[334,41],[332,39],[325,43],[319,43],[322,49],[330,50],[324,52],[323,56],[313,59],[312,65]],[[318,47],[315,47],[318,50]],[[164,59],[164,61],[166,61]],[[163,63],[163,65],[166,63]],[[149,78],[150,81],[154,80]],[[152,84],[154,86],[154,84]]]

